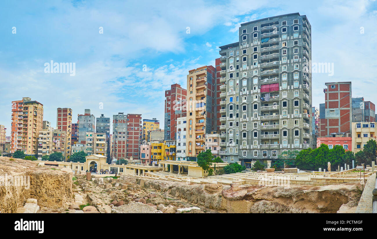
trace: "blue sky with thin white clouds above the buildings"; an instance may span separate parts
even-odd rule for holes
[[[58,107],[72,108],[74,122],[91,109],[96,117],[141,113],[163,126],[170,84],[186,87],[188,70],[214,65],[218,46],[238,41],[241,23],[293,12],[311,23],[312,62],[334,63],[333,76],[313,73],[313,106],[333,81],[352,81],[352,97],[377,104],[372,0],[7,1],[0,6],[0,124],[9,136],[11,101],[31,97],[54,127]],[[51,60],[75,63],[75,76],[45,73]]]

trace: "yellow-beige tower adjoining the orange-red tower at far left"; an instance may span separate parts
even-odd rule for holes
[[[24,97],[22,107],[22,150],[26,155],[38,154],[38,133],[42,129],[43,104]]]

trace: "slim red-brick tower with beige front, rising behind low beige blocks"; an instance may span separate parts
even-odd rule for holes
[[[72,138],[72,109],[70,108],[58,108],[56,115],[57,129],[66,132],[66,153],[65,155],[71,155],[71,138]]]

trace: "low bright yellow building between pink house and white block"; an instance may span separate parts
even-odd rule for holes
[[[175,160],[177,149],[175,140],[152,143],[151,146],[152,161]]]

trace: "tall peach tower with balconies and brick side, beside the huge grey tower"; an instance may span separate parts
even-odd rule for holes
[[[216,125],[216,69],[202,66],[187,75],[186,98],[186,156],[196,160],[205,151],[205,134],[215,130]]]

